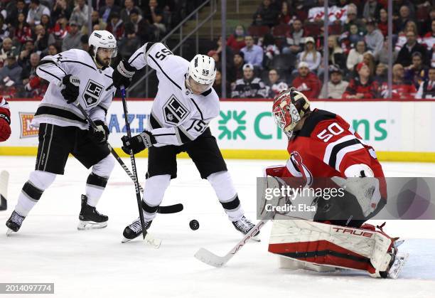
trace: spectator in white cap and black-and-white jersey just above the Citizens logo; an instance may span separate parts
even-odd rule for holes
[[[243,65],[243,78],[232,84],[232,98],[265,98],[267,87],[260,78],[254,77],[254,65]]]

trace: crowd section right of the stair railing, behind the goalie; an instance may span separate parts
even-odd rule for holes
[[[227,38],[230,97],[274,97],[288,86],[308,98],[435,97],[434,1],[394,0],[392,93],[388,92],[387,0],[330,0],[328,88],[324,75],[324,1],[259,1],[252,26]],[[220,60],[218,49],[208,54]],[[220,92],[220,74],[215,90]]]

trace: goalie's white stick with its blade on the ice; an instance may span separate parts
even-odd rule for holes
[[[219,255],[215,255],[213,252],[210,252],[210,250],[206,250],[205,248],[200,248],[196,253],[195,257],[200,260],[201,262],[205,262],[205,264],[208,264],[210,266],[214,267],[222,267],[225,265],[234,255],[240,250],[240,248],[245,245],[249,239],[253,238],[255,234],[259,232],[259,230],[265,225],[269,219],[263,219],[260,220],[257,225],[254,226],[249,232],[245,235],[242,240],[239,241],[235,245],[232,250],[230,250],[225,256],[220,257]]]

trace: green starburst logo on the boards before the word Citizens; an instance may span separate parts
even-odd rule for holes
[[[240,114],[237,111],[220,111],[220,119],[218,121],[219,130],[221,131],[219,134],[219,139],[227,138],[227,139],[246,139],[245,134],[243,133],[246,130],[246,120],[243,119],[245,117],[246,111],[243,110]]]

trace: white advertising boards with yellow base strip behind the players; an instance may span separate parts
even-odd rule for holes
[[[33,155],[38,129],[31,126],[36,100],[9,100],[12,135],[0,143],[0,154]],[[146,128],[151,100],[129,100],[132,134]],[[382,160],[435,161],[435,102],[314,101],[313,108],[341,115],[372,145]],[[276,127],[270,100],[222,100],[220,115],[210,128],[227,158],[286,159],[286,135]],[[121,147],[126,134],[122,102],[114,100],[107,112],[112,147]],[[146,156],[146,152],[141,153]],[[139,154],[139,155],[141,155]]]

